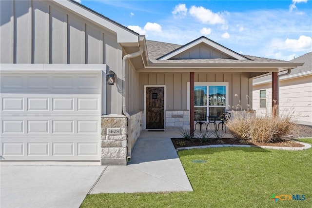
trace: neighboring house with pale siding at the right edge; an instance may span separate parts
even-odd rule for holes
[[[279,114],[288,115],[302,125],[312,125],[312,52],[290,62],[304,63],[290,74],[280,77]],[[271,76],[256,78],[253,81],[253,108],[257,115],[271,113]],[[268,105],[269,104],[269,105]]]

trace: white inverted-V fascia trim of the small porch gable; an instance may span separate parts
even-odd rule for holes
[[[227,48],[225,48],[219,44],[216,44],[215,42],[209,41],[205,38],[201,38],[195,42],[192,42],[191,44],[185,45],[184,47],[182,46],[180,49],[174,51],[173,53],[168,54],[167,56],[162,57],[159,60],[168,60],[168,59],[182,53],[183,51],[186,51],[186,50],[188,50],[188,49],[190,49],[190,48],[194,47],[195,45],[200,44],[202,42],[206,43],[207,45],[215,48],[216,50],[219,50],[219,51],[221,51],[221,52],[223,52],[223,53],[225,53],[225,54],[227,54],[227,55],[229,55],[229,56],[231,56],[237,60],[248,60],[245,57],[240,56],[240,55],[234,53],[233,51],[231,51],[231,50],[229,50],[229,49],[227,49]]]

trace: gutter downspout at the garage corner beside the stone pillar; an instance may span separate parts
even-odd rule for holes
[[[140,56],[143,53],[143,45],[140,46],[139,51],[132,53],[132,54],[127,54],[122,58],[122,80],[124,81],[122,84],[122,113],[127,117],[128,119],[128,138],[127,138],[127,146],[128,146],[128,153],[127,153],[127,161],[130,162],[131,161],[131,138],[132,138],[132,132],[131,132],[131,116],[130,114],[127,112],[127,108],[126,108],[126,61],[128,59]]]

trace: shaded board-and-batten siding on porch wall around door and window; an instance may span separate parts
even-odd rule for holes
[[[196,73],[195,82],[228,82],[229,105],[252,107],[252,82],[249,73]],[[144,85],[166,86],[166,110],[187,110],[187,83],[190,73],[140,73],[140,109],[144,109]],[[235,96],[236,95],[236,96]],[[250,98],[249,98],[250,97]]]

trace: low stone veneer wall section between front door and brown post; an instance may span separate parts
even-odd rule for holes
[[[189,110],[167,110],[165,119],[166,129],[190,128]]]

